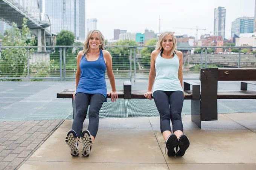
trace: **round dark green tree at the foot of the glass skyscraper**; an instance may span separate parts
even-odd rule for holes
[[[75,34],[71,31],[61,30],[56,39],[56,45],[73,45],[75,41]]]

